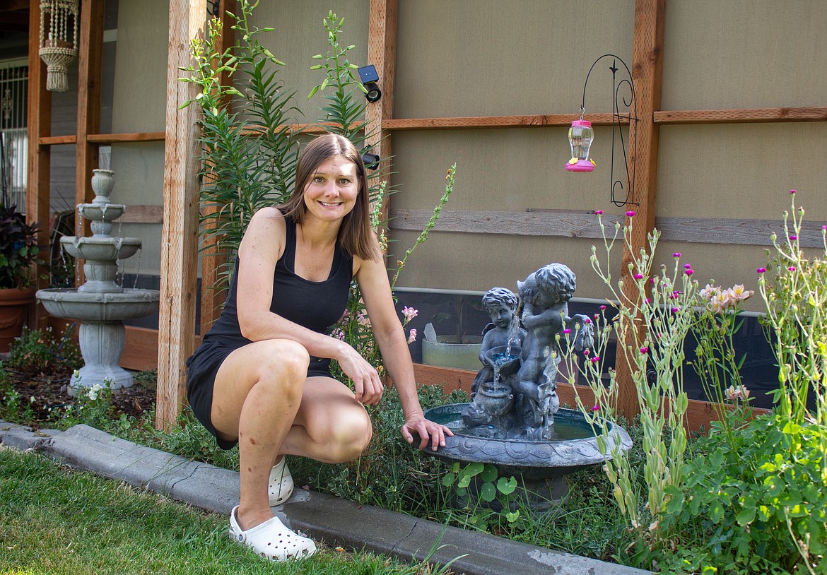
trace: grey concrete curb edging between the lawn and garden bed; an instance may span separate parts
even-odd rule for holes
[[[34,449],[71,467],[144,487],[208,511],[228,514],[238,502],[237,472],[137,445],[88,425],[75,425],[62,432],[33,432],[0,421],[0,444],[21,451]],[[290,529],[346,548],[421,561],[436,545],[431,560],[441,564],[454,560],[452,570],[466,575],[649,573],[301,489],[274,511]]]

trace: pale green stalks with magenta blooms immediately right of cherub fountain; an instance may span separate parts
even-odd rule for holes
[[[620,511],[638,530],[642,540],[657,544],[662,539],[658,518],[669,500],[667,490],[682,480],[681,468],[686,452],[684,416],[689,405],[683,391],[684,340],[695,319],[692,307],[696,302],[697,282],[692,278],[691,266],[681,265],[681,254],[674,254],[671,269],[654,267],[653,254],[660,237],[657,230],[648,235],[648,249],[633,251],[633,211],[626,214],[629,223],[626,226],[617,223],[611,236],[606,234],[600,214],[602,212],[598,211],[605,262],[601,262],[597,249],[592,247],[591,266],[608,286],[615,302],[610,305],[617,313],[610,322],[606,321],[605,307],[601,315],[595,316],[597,351],[585,352],[590,356],[586,361],[585,376],[595,395],[595,406],[584,405],[581,397],[577,397],[577,405],[595,427],[619,416],[616,373],[609,370],[608,387],[601,379],[603,359],[600,349],[605,349],[605,341],[614,331],[618,353],[629,365],[637,392],[643,429],[643,469],[640,472],[634,470],[623,449],[619,445],[607,446],[602,434],[597,435],[597,440],[600,449],[611,456],[606,461],[605,472],[614,484],[614,498]],[[615,282],[609,271],[612,248],[621,236],[632,254],[628,271],[634,290],[624,290],[624,281]],[[645,494],[635,487],[637,473],[643,474],[647,486]],[[641,497],[646,501],[643,507]],[[651,516],[651,521],[647,522],[646,516]]]

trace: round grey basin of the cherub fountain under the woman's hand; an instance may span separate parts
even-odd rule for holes
[[[509,473],[520,473],[532,478],[555,478],[577,468],[611,459],[614,445],[624,451],[632,446],[629,434],[619,425],[603,421],[600,435],[606,440],[605,451],[600,449],[595,433],[580,411],[560,409],[554,416],[555,438],[547,441],[502,439],[480,435],[468,430],[462,423],[462,411],[467,403],[451,403],[425,410],[425,417],[446,425],[454,432],[446,436],[445,447],[428,451],[442,459],[463,462],[492,463]]]

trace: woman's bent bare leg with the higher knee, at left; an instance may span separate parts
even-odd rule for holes
[[[227,356],[215,378],[211,418],[227,440],[238,438],[242,530],[273,516],[267,482],[302,402],[309,355],[290,340],[257,341]]]

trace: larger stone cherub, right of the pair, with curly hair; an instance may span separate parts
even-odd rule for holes
[[[576,351],[594,345],[589,318],[568,315],[568,301],[575,286],[574,273],[563,264],[548,264],[517,283],[519,315],[526,335],[513,385],[518,396],[518,418],[526,422],[525,433],[533,439],[549,439],[554,414],[560,407],[557,365],[561,341],[570,340],[565,330],[574,335]]]

